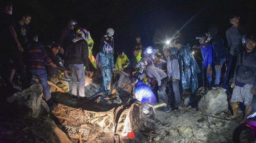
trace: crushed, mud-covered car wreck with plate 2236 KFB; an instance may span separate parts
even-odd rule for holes
[[[56,124],[75,143],[145,143],[145,136],[156,128],[155,110],[133,99],[135,84],[120,74],[117,90],[121,104],[96,104],[91,100],[83,102],[81,108],[58,104],[52,111]]]

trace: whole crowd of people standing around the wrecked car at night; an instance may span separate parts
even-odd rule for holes
[[[50,108],[56,106],[47,84],[51,77],[58,75],[59,78],[71,81],[72,100],[87,100],[84,88],[85,74],[93,77],[94,71],[100,69],[103,77],[101,86],[104,91],[109,91],[113,71],[125,70],[130,66],[135,69],[133,75],[146,75],[142,81],[151,87],[156,101],[159,102],[159,94],[163,102],[171,105],[174,111],[178,110],[181,96],[187,91],[191,93],[190,102],[193,102],[193,97],[198,91],[198,76],[203,77],[204,89],[201,94],[218,88],[229,91],[229,81],[232,79],[233,92],[227,93],[232,93],[228,98],[231,99],[233,115],[227,118],[237,117],[238,102],[246,105],[243,121],[252,111],[252,97],[256,94],[256,35],[252,31],[245,34],[241,30],[238,15],[229,17],[232,24],[226,31],[229,48],[225,47],[216,26],[210,27],[207,33],[196,36],[203,57],[201,71],[189,44],[179,39],[171,41],[174,42],[174,47],[164,48],[163,51],[152,54],[148,53],[141,37],[136,36],[134,47],[131,48],[133,63],[130,64],[123,49],[114,50],[112,28],[107,29],[106,35],[102,36],[100,52],[96,56],[93,56],[94,41],[90,32],[80,27],[76,20],[69,21],[58,43],[52,43],[50,50],[47,50],[44,44],[38,42],[38,34],[29,30],[31,15],[25,13],[14,22],[11,14],[12,3],[9,2],[2,7],[0,14],[1,78],[8,90],[14,90],[13,80],[17,72],[22,89],[26,89],[31,86],[32,75],[36,75]],[[117,54],[116,63],[114,54]],[[222,66],[225,61],[228,64],[221,85]],[[162,111],[169,112],[169,106]]]

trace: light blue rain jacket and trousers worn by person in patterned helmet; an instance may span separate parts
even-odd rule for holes
[[[105,54],[103,51],[98,52],[96,56],[96,64],[102,71],[102,87],[106,88],[107,83],[111,82],[112,79],[111,68],[115,68],[113,54]]]

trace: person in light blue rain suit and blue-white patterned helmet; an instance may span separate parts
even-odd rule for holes
[[[109,91],[111,88],[112,70],[116,70],[114,66],[114,56],[112,54],[113,48],[105,44],[102,51],[98,52],[96,56],[96,64],[102,71],[102,88]]]

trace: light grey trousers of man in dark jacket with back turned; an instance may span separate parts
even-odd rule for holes
[[[80,97],[85,97],[84,84],[85,84],[85,71],[84,64],[69,64],[71,71],[72,83],[71,83],[71,94],[77,95],[77,82],[78,82],[78,94]]]

